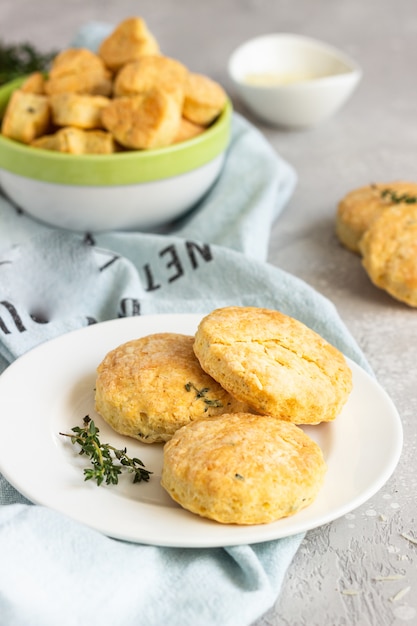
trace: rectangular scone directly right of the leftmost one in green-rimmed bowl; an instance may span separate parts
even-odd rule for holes
[[[50,97],[52,121],[57,126],[103,128],[101,113],[110,104],[105,96],[59,93]]]

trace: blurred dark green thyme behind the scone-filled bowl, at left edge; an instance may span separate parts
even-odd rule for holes
[[[5,44],[0,40],[0,85],[49,68],[57,52],[40,52],[30,43]]]

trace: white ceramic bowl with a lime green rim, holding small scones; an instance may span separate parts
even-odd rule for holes
[[[0,117],[24,79],[0,88]],[[215,183],[230,139],[232,106],[201,135],[153,150],[72,155],[0,134],[0,184],[24,211],[72,230],[148,229],[194,206]]]

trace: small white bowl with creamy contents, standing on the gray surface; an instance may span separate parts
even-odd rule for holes
[[[346,102],[362,77],[336,48],[289,33],[256,37],[230,57],[229,75],[248,109],[287,128],[316,126]]]

